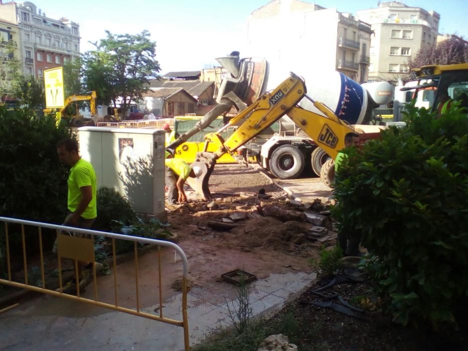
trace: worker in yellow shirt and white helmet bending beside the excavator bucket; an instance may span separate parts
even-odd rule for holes
[[[194,170],[186,161],[180,158],[173,158],[167,151],[164,163],[166,165],[166,187],[169,205],[175,205],[177,201],[180,203],[187,202],[184,184],[187,178],[195,178]]]

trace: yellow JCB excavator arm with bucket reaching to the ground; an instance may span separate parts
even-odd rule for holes
[[[311,100],[325,116],[296,106],[304,97]],[[188,181],[189,185],[205,199],[211,199],[208,181],[216,160],[226,152],[236,151],[283,115],[291,118],[332,158],[335,158],[338,151],[345,147],[345,135],[354,131],[326,105],[309,98],[306,95],[304,81],[291,72],[289,78],[273,91],[264,93],[253,104],[233,117],[223,128],[205,136],[204,152],[200,152],[196,161],[192,163],[192,168],[198,167],[195,173],[199,175],[194,182]],[[235,125],[238,125],[238,128],[224,140],[221,132]],[[217,151],[206,152],[209,143],[217,144]]]

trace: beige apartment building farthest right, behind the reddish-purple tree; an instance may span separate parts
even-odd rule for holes
[[[408,58],[422,47],[436,45],[440,15],[398,2],[357,12],[371,25],[369,80],[395,82],[408,71]]]

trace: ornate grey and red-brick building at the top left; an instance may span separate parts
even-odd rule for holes
[[[19,59],[25,75],[41,79],[44,70],[80,56],[79,25],[65,18],[48,18],[31,2],[0,4],[0,20],[19,29]]]

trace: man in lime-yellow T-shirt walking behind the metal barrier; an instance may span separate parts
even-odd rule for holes
[[[68,215],[64,226],[89,229],[97,217],[96,210],[96,173],[91,163],[81,158],[78,144],[73,139],[63,139],[57,144],[57,154],[62,163],[70,167],[68,175]],[[54,250],[55,244],[54,244]],[[86,266],[87,265],[87,266]],[[86,274],[83,267],[86,266]],[[102,266],[99,264],[99,269]],[[89,280],[92,263],[78,262],[78,279],[80,288]],[[96,267],[97,268],[97,267]],[[86,277],[84,275],[87,275]],[[64,291],[76,289],[76,282],[70,281]]]

